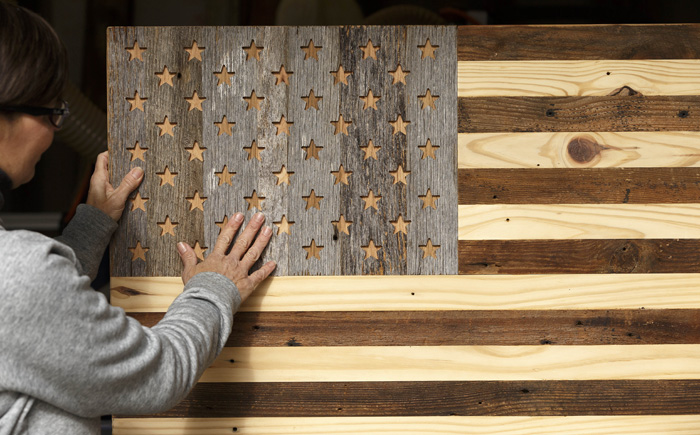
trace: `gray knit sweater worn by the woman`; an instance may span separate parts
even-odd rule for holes
[[[88,205],[58,239],[0,226],[0,435],[167,410],[223,348],[241,299],[222,275],[193,277],[152,328],[90,288],[115,228]]]

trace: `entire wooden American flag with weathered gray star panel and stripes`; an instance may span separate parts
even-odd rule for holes
[[[113,176],[150,174],[112,303],[156,324],[174,244],[236,210],[290,258],[190,396],[116,434],[700,431],[700,26],[109,42]]]

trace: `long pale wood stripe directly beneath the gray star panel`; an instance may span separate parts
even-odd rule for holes
[[[241,311],[700,308],[700,275],[443,275],[268,278]],[[112,277],[112,305],[164,312],[177,277]]]

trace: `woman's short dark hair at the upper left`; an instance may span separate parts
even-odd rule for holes
[[[49,23],[0,0],[0,106],[47,106],[67,80],[66,48]]]

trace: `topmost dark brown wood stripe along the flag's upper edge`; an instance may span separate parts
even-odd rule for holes
[[[457,28],[458,60],[697,58],[697,24]]]

